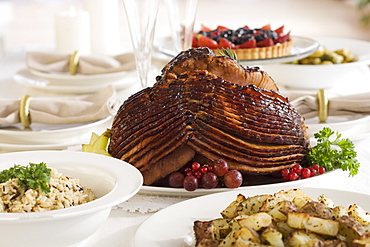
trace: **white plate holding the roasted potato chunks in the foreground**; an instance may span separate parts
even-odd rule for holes
[[[295,187],[291,187],[295,188]],[[370,210],[370,195],[325,188],[301,188],[312,199],[321,194],[333,199],[336,205],[348,206],[356,203]],[[241,193],[248,196],[273,194],[279,188],[253,188],[226,193],[218,193],[189,199],[169,206],[144,221],[134,236],[135,247],[183,247],[193,238],[192,227],[195,220],[220,218],[220,212]]]

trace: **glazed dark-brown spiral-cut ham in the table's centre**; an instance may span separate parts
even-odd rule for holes
[[[186,61],[194,60],[183,55]],[[309,145],[304,119],[280,93],[254,85],[266,83],[266,78],[272,81],[267,74],[256,68],[248,72],[236,61],[220,57],[231,68],[241,68],[240,74],[258,72],[232,83],[216,75],[215,71],[227,71],[224,68],[184,69],[176,59],[153,87],[122,104],[111,128],[109,152],[138,168],[146,185],[194,157],[223,158],[229,168],[254,175],[304,162]],[[235,76],[228,74],[230,80]]]

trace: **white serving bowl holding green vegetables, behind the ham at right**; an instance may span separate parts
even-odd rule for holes
[[[328,89],[355,78],[369,77],[370,42],[347,38],[316,38],[326,49],[350,49],[358,61],[333,65],[269,64],[262,68],[278,84],[292,89]]]

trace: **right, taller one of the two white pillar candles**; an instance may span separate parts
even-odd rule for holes
[[[91,52],[115,55],[120,49],[118,0],[84,0],[90,14]]]

